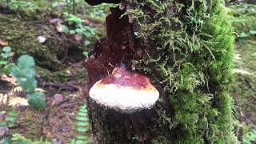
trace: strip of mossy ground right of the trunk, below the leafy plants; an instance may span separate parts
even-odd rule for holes
[[[256,128],[256,39],[243,39],[237,42],[240,59],[236,62],[234,84],[231,94],[237,106],[237,117],[240,120],[243,134],[248,127]],[[243,134],[239,134],[242,137]]]

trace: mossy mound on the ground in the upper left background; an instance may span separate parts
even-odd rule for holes
[[[30,54],[34,56],[38,66],[50,70],[58,70],[61,67],[58,55],[64,50],[62,44],[53,38],[55,30],[46,20],[45,14],[18,11],[14,14],[0,14],[0,19],[0,39],[9,42],[15,52],[15,58]],[[46,37],[46,42],[39,43],[38,36]]]

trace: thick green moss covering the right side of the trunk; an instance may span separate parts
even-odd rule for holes
[[[237,142],[229,94],[234,38],[222,1],[129,3],[145,53],[134,68],[162,92],[154,142]]]

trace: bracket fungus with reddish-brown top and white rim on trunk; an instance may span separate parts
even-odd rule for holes
[[[122,113],[150,109],[159,98],[149,78],[123,67],[116,67],[112,74],[96,82],[89,95],[98,104]]]

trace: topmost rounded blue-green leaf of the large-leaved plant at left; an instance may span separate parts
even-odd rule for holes
[[[22,55],[18,58],[18,68],[19,69],[30,69],[35,65],[34,58],[30,55]]]

